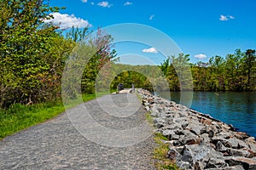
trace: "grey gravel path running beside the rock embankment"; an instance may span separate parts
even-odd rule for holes
[[[118,107],[109,105],[106,102],[109,98]],[[100,102],[103,104],[99,105]],[[125,106],[128,103],[129,108],[139,105],[131,116],[127,116],[129,108]],[[102,109],[104,105],[108,105],[108,108]],[[135,144],[125,147],[111,147],[87,139],[73,126],[68,115],[82,111],[84,106],[96,122],[109,129],[119,130],[120,133],[142,124],[150,129],[136,94],[103,96],[0,141],[0,169],[154,169],[152,152],[155,144],[152,136],[139,142],[134,139]],[[126,116],[108,114],[111,109],[116,113],[117,108],[121,107],[124,110],[119,109],[120,114]],[[121,135],[125,140],[125,133]]]

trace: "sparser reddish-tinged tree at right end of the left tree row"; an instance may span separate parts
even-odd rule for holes
[[[94,94],[99,71],[116,59],[116,52],[111,44],[113,38],[101,29],[94,34],[88,32],[87,28],[72,28],[66,37],[76,42],[76,47],[70,54],[71,58],[68,59],[64,70],[62,90],[65,92],[65,98],[74,99],[81,92]],[[80,73],[83,73],[82,77],[78,76]],[[109,73],[105,72],[104,76],[108,77]]]

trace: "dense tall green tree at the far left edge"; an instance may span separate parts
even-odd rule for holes
[[[49,86],[54,86],[54,80],[59,78],[53,68],[57,56],[51,55],[59,36],[56,27],[44,24],[43,19],[49,19],[49,13],[59,8],[38,0],[3,0],[0,8],[0,106],[52,98],[52,94],[42,90],[52,89]]]

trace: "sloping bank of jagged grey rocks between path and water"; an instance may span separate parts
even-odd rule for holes
[[[139,90],[156,133],[168,138],[167,157],[182,169],[256,169],[256,142],[247,133],[183,105]]]

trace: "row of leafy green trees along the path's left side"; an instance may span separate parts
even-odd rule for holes
[[[0,108],[61,98],[61,77],[73,49],[95,49],[83,75],[83,92],[92,92],[97,71],[115,57],[110,37],[98,29],[73,28],[63,36],[50,20],[61,8],[44,0],[3,0],[0,3]],[[85,40],[85,41],[84,41]]]

